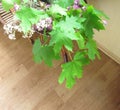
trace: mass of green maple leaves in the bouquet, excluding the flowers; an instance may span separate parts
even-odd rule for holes
[[[94,29],[104,30],[102,19],[107,17],[93,6],[86,4],[84,0],[79,0],[81,7],[78,9],[72,7],[74,0],[54,0],[51,6],[44,11],[23,5],[27,2],[29,1],[23,0],[21,3],[21,0],[9,0],[9,2],[3,0],[2,4],[7,10],[12,8],[15,3],[20,5],[21,8],[16,11],[16,16],[21,21],[21,27],[25,33],[30,31],[31,26],[39,19],[46,17],[53,19],[52,31],[45,31],[43,36],[49,35],[49,43],[42,44],[39,39],[34,43],[35,62],[44,61],[47,65],[52,66],[52,61],[60,58],[63,47],[67,52],[74,53],[73,41],[77,43],[78,49],[72,54],[72,59],[61,65],[62,72],[58,80],[60,84],[66,80],[66,87],[73,87],[76,78],[82,77],[83,67],[96,56],[100,58],[93,39]],[[49,37],[47,38],[49,39]]]

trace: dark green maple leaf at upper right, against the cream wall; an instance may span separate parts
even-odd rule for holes
[[[104,30],[104,25],[101,21],[101,18],[98,14],[94,13],[94,8],[88,6],[87,10],[83,13],[83,17],[86,18],[86,21],[83,23],[85,35],[89,38],[93,37],[93,29]]]

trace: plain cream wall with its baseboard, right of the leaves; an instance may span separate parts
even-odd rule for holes
[[[120,0],[88,0],[88,3],[110,17],[106,30],[96,32],[95,39],[105,53],[120,63]]]

